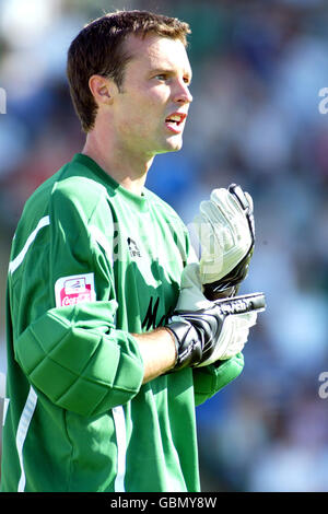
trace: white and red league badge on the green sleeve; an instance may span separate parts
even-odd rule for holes
[[[56,307],[95,301],[94,274],[62,277],[55,284]]]

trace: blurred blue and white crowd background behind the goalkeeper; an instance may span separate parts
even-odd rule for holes
[[[27,197],[84,141],[67,49],[86,22],[117,9],[192,28],[184,149],[155,159],[148,187],[187,224],[214,187],[238,183],[255,202],[256,249],[241,292],[265,291],[268,307],[243,374],[197,409],[202,490],[328,491],[325,0],[0,0],[0,396],[11,238]]]

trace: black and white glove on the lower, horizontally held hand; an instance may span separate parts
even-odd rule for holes
[[[265,295],[254,293],[207,302],[195,312],[178,312],[166,325],[176,342],[174,370],[208,365],[241,352],[265,305]]]

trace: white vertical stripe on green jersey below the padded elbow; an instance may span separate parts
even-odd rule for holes
[[[122,406],[112,409],[117,444],[117,475],[115,479],[115,492],[125,492],[125,475],[126,475],[126,455],[127,455],[127,433],[126,418]]]

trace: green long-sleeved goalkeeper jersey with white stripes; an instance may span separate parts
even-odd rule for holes
[[[27,200],[9,266],[1,491],[198,491],[195,406],[243,369],[142,385],[191,252],[175,211],[77,154]]]

